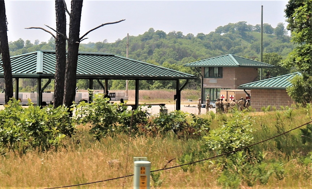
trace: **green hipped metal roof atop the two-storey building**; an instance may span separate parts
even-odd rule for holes
[[[235,56],[235,55],[223,55],[214,58],[208,58],[201,61],[191,62],[184,64],[189,67],[255,67],[255,68],[269,68],[274,65],[266,64],[259,61],[254,61],[248,58]]]

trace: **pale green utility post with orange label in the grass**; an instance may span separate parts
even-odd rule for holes
[[[133,189],[150,189],[151,162],[146,157],[134,157]]]

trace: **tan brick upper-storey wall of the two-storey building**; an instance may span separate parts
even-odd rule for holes
[[[204,75],[204,68],[201,69]],[[258,69],[242,67],[223,67],[222,78],[204,78],[205,88],[228,88],[237,89],[239,85],[256,81]]]

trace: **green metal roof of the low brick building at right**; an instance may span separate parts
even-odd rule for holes
[[[240,85],[239,89],[286,89],[291,86],[290,80],[295,75],[301,75],[300,72],[295,72],[292,74],[280,75],[277,77],[272,77],[265,80],[254,81],[251,83],[246,83]]]

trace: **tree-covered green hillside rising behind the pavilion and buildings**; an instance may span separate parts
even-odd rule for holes
[[[294,43],[291,42],[291,37],[287,36],[288,32],[284,24],[279,23],[273,28],[266,23],[263,32],[263,62],[276,66],[270,69],[271,76],[294,71],[279,65],[279,62],[284,60],[295,48]],[[196,89],[200,87],[198,72],[194,68],[183,67],[183,64],[225,54],[234,54],[260,61],[260,35],[259,24],[253,26],[245,21],[229,23],[217,27],[214,32],[208,34],[198,33],[196,35],[191,33],[184,35],[181,31],[166,33],[150,28],[142,35],[129,36],[129,58],[197,75],[198,80],[191,81],[188,85],[188,88]],[[51,38],[47,42],[35,40],[32,43],[29,40],[19,39],[9,42],[9,47],[10,55],[15,56],[37,50],[55,50],[55,41],[54,38]],[[126,56],[126,37],[113,43],[108,43],[107,40],[82,43],[79,51],[113,53]],[[265,75],[268,70],[262,69],[262,71]],[[35,88],[34,83],[32,79],[25,79],[22,85],[26,88],[27,86]],[[120,90],[125,88],[125,83],[125,80],[113,80],[109,81],[109,87],[112,90]],[[88,81],[79,80],[77,87],[86,89]],[[100,88],[96,82],[94,87],[95,89]],[[53,85],[50,88],[52,89]],[[175,83],[171,81],[140,82],[140,89],[174,88]],[[134,89],[134,81],[129,82],[129,89]]]

